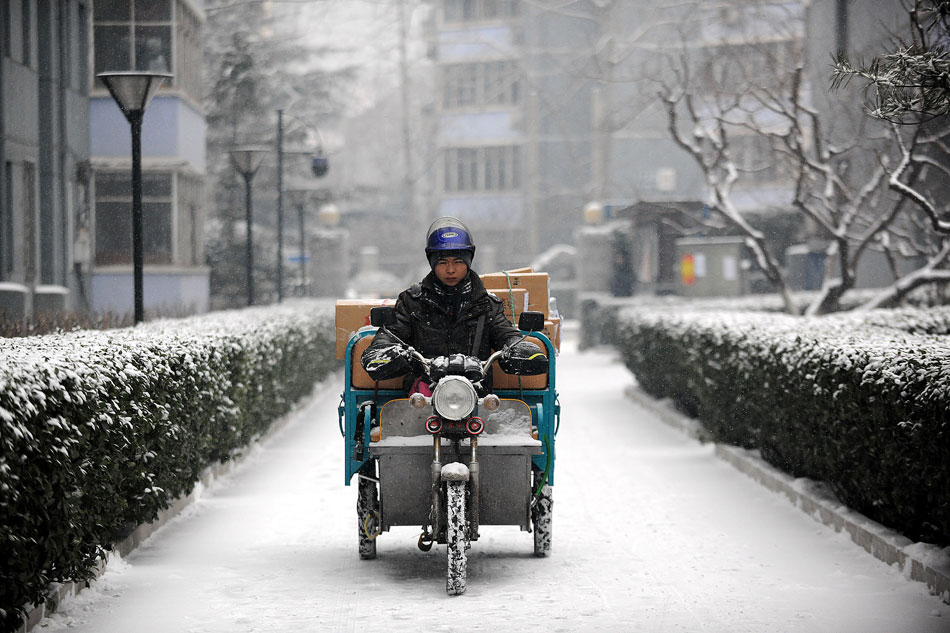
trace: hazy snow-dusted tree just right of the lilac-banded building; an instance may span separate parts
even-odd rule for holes
[[[243,288],[243,247],[246,233],[242,187],[229,163],[228,150],[235,145],[276,145],[278,108],[287,96],[296,95],[293,113],[284,129],[286,146],[315,146],[316,132],[310,122],[342,109],[345,88],[353,71],[343,67],[323,71],[315,63],[336,49],[309,46],[287,35],[286,25],[270,8],[257,2],[209,0],[204,27],[205,72],[210,87],[205,98],[209,186],[213,208],[206,236],[207,263],[211,268],[212,295],[217,305],[240,305]],[[255,180],[258,192],[276,190],[275,161]],[[276,198],[276,194],[275,194]],[[270,225],[274,214],[265,204],[255,224]],[[235,230],[237,228],[237,230]],[[246,230],[246,229],[245,229]],[[276,233],[262,231],[260,250],[276,250]],[[256,268],[267,287],[275,275],[270,270],[272,253],[255,258]]]

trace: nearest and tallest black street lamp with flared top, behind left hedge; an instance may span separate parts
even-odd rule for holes
[[[168,73],[138,71],[106,72],[96,75],[115,99],[132,127],[132,284],[135,301],[135,323],[145,318],[142,292],[142,119],[149,101],[158,92]]]

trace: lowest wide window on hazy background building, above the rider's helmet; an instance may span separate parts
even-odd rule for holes
[[[443,150],[446,192],[511,191],[521,186],[521,152],[516,145]]]

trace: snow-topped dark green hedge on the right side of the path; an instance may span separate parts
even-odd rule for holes
[[[908,537],[950,545],[950,308],[615,315],[646,392]]]

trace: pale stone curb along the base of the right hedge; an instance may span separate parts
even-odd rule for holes
[[[626,395],[654,413],[664,423],[700,442],[712,442],[699,420],[673,408],[666,400],[656,400],[638,387],[628,387]],[[851,540],[887,565],[897,565],[910,580],[927,585],[930,593],[950,604],[950,553],[935,545],[914,543],[907,537],[872,521],[860,512],[842,505],[824,484],[806,478],[794,478],[759,457],[757,451],[714,442],[716,456],[773,492],[785,495],[815,521],[846,531]]]

